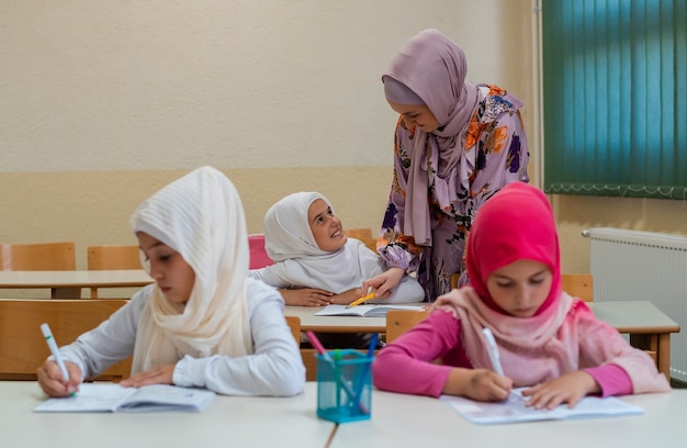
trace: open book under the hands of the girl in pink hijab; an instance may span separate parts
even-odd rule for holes
[[[522,391],[514,389],[505,402],[477,402],[463,396],[441,395],[440,400],[465,419],[480,425],[536,422],[566,418],[599,418],[619,415],[641,415],[644,410],[615,396],[585,396],[572,410],[562,404],[553,410],[536,410],[526,406]]]

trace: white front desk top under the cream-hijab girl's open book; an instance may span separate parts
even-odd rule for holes
[[[317,418],[317,389],[293,397],[218,395],[202,413],[38,414],[37,383],[0,381],[3,447],[313,447],[335,425]]]

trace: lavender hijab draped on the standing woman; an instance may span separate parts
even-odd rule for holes
[[[382,81],[396,80],[410,90],[403,92],[397,82],[385,86],[386,100],[402,104],[417,96],[429,108],[440,126],[430,134],[415,130],[409,188],[406,192],[404,233],[419,245],[431,244],[429,179],[424,166],[428,138],[439,148],[439,177],[446,178],[458,165],[465,148],[470,120],[477,107],[477,86],[466,81],[468,61],[463,51],[437,30],[425,30],[408,41],[391,63]],[[391,97],[391,98],[390,98]],[[409,102],[416,104],[417,102]]]

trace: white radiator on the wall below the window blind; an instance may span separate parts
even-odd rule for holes
[[[687,237],[596,227],[590,239],[594,300],[647,300],[680,326],[671,335],[671,377],[687,382]]]

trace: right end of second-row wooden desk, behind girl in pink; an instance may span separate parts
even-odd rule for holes
[[[671,379],[671,333],[679,325],[649,301],[589,302],[594,315],[618,332],[630,335],[630,344],[646,350],[658,371]]]

